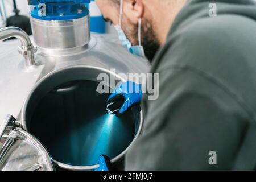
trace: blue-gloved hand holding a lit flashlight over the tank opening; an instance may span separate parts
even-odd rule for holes
[[[130,89],[129,89],[130,86]],[[124,82],[115,88],[114,92],[110,95],[107,105],[110,103],[120,102],[121,104],[113,104],[111,110],[119,110],[113,114],[117,117],[125,113],[130,107],[137,105],[142,99],[141,84],[136,84],[131,81]]]

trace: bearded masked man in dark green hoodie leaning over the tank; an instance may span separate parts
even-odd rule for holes
[[[143,96],[143,133],[125,169],[255,169],[256,2],[96,2],[159,73],[159,98]]]

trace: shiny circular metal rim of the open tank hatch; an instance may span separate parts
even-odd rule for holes
[[[117,75],[116,73],[114,72],[111,72],[110,70],[108,69],[105,69],[105,68],[101,68],[101,67],[94,67],[94,66],[88,66],[88,65],[74,65],[74,66],[69,66],[69,67],[65,67],[65,68],[60,68],[60,69],[57,69],[56,71],[53,71],[51,73],[48,73],[46,76],[44,76],[43,78],[41,78],[38,82],[36,82],[36,84],[34,85],[34,87],[32,88],[31,92],[28,94],[27,98],[26,98],[26,101],[24,102],[23,106],[22,106],[22,111],[21,111],[21,124],[22,124],[22,128],[24,130],[27,131],[27,125],[26,125],[26,109],[27,109],[27,104],[28,104],[28,101],[30,100],[32,94],[34,93],[34,91],[36,90],[36,88],[38,88],[38,86],[40,84],[42,84],[44,82],[44,80],[46,80],[48,77],[51,77],[55,74],[57,74],[58,72],[62,72],[62,71],[67,71],[69,69],[76,69],[76,68],[85,68],[85,69],[97,69],[97,70],[100,70],[102,72],[105,72],[105,73],[109,73],[110,75],[114,75],[115,77],[118,77],[121,81],[125,82],[127,81],[125,78]],[[141,107],[141,106],[140,106]],[[142,110],[140,110],[140,113],[139,113],[139,126],[138,126],[138,131],[133,139],[133,141],[130,143],[130,145],[121,153],[119,154],[118,156],[116,156],[115,158],[113,158],[112,160],[110,160],[111,163],[117,163],[119,162],[119,160],[121,160],[125,154],[127,153],[127,151],[133,146],[134,142],[138,139],[139,135],[141,135],[142,133],[142,127],[143,127],[143,112]],[[64,163],[61,163],[61,162],[58,162],[54,159],[52,159],[53,162],[56,164],[57,167],[60,167],[60,168],[64,168],[64,169],[68,169],[68,170],[73,170],[73,171],[81,171],[81,170],[85,170],[85,171],[89,171],[89,170],[93,170],[93,169],[96,169],[99,167],[98,164],[96,165],[92,165],[92,166],[72,166],[72,165],[68,165],[68,164],[64,164]]]

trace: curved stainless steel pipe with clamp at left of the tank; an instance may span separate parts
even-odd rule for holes
[[[15,37],[20,40],[21,47],[19,47],[18,50],[25,58],[26,65],[34,65],[34,54],[37,51],[37,48],[33,46],[26,32],[18,27],[6,27],[0,29],[0,40],[5,40],[11,37]]]

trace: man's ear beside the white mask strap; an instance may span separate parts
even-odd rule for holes
[[[123,1],[123,12],[131,19],[133,23],[137,23],[139,18],[144,15],[145,5],[143,0],[125,0]]]

